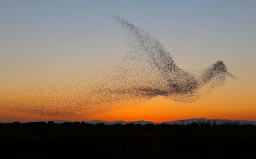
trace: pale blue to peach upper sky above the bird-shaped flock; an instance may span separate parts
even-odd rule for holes
[[[118,59],[125,54],[125,36],[111,14],[150,32],[182,68],[223,60],[231,73],[244,76],[237,68],[256,68],[255,7],[256,1],[236,0],[0,1],[0,83]]]

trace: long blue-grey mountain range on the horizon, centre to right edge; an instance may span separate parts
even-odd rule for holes
[[[214,121],[216,121],[216,124],[219,125],[221,123],[234,123],[237,122],[239,124],[253,124],[256,125],[256,121],[247,121],[247,120],[227,120],[227,119],[206,119],[206,118],[192,118],[192,119],[185,119],[183,120],[183,124],[187,125],[188,123],[191,124],[193,122],[200,122],[200,123],[207,123],[207,122],[211,122],[211,124],[213,124]],[[90,123],[90,124],[97,124],[97,123],[105,123],[106,125],[112,125],[112,124],[116,124],[116,123],[121,123],[121,125],[125,125],[127,123],[140,123],[141,125],[145,125],[147,123],[153,123],[153,124],[161,124],[161,123],[154,123],[154,122],[150,122],[150,121],[145,121],[145,120],[138,120],[138,121],[130,121],[130,122],[125,122],[125,121],[114,121],[114,122],[106,122],[106,121],[102,121],[102,120],[92,120],[92,121],[86,121],[85,123]],[[171,121],[171,122],[162,122],[164,124],[181,124],[182,120],[176,120],[176,121]]]

